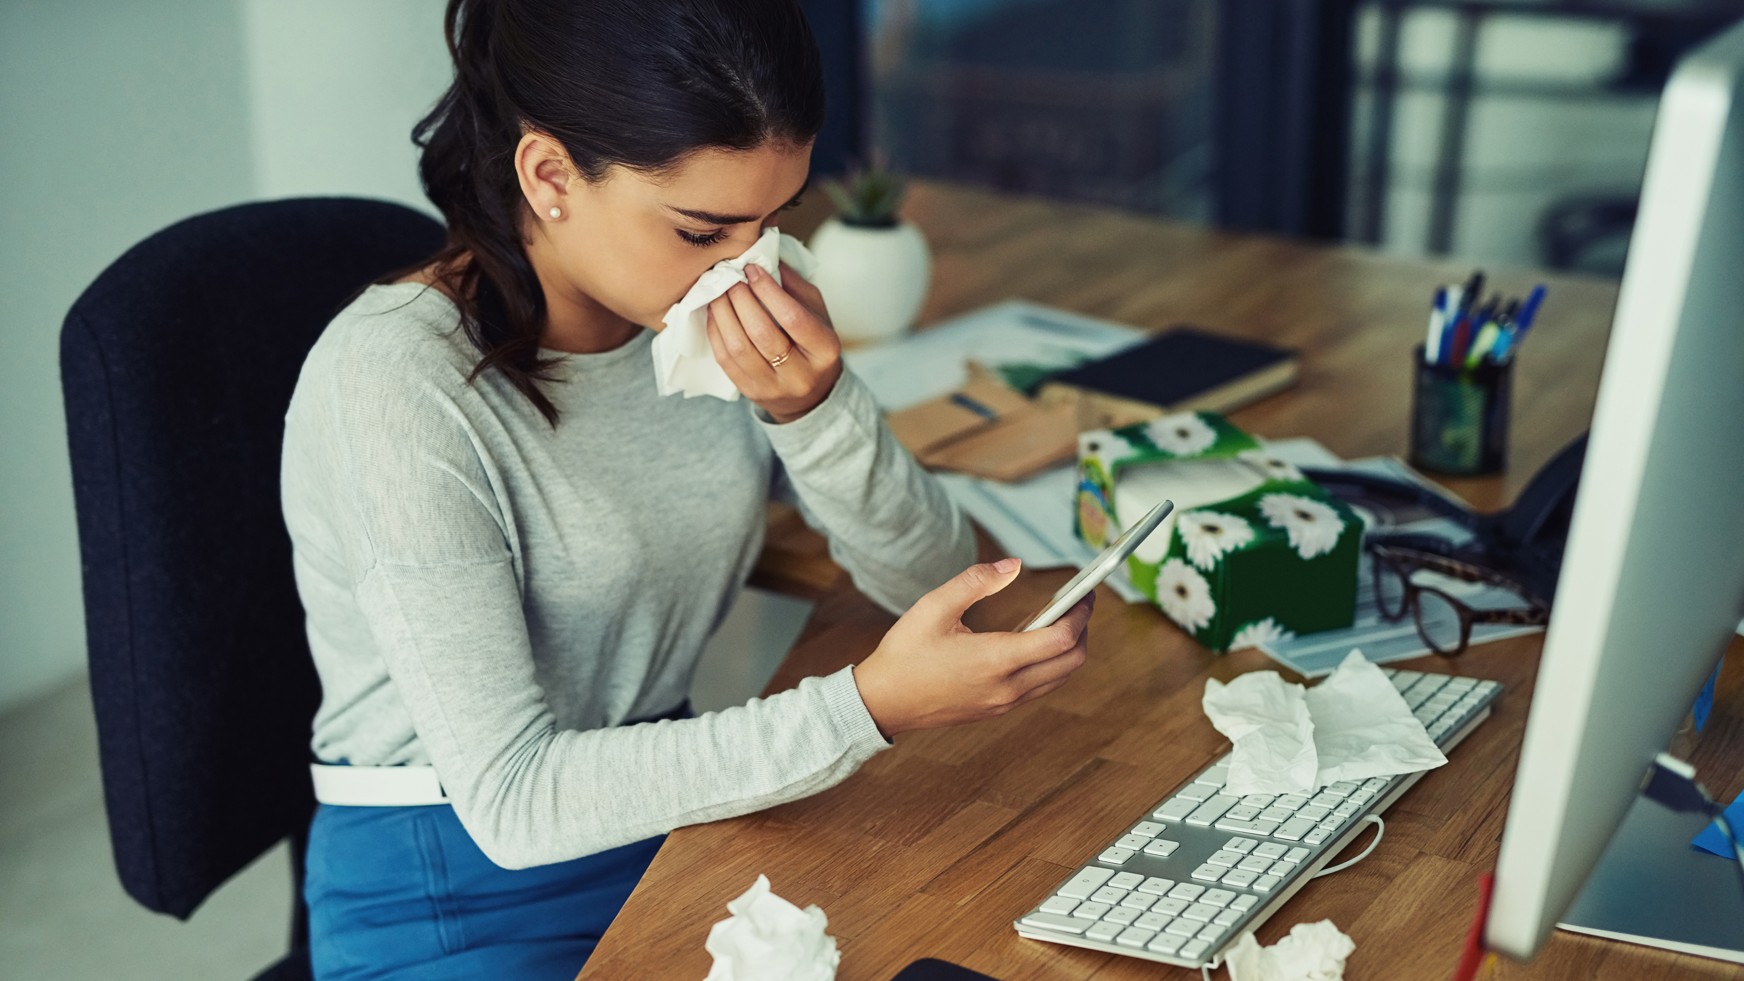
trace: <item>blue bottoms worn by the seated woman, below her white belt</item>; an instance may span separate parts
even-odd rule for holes
[[[321,805],[303,885],[314,976],[570,981],[664,840],[504,869],[448,805]]]

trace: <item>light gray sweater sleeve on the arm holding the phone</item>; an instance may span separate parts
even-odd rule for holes
[[[412,372],[324,368],[288,438],[328,461],[368,635],[494,862],[567,861],[792,801],[888,745],[853,669],[698,719],[560,731],[535,677],[513,515],[480,449],[488,419],[452,386],[394,381]]]

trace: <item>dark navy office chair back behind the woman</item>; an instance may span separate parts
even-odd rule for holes
[[[187,918],[291,838],[307,979],[309,731],[321,698],[279,511],[284,410],[328,319],[433,255],[399,204],[293,199],[188,218],[115,260],[61,328],[91,698],[115,868]]]

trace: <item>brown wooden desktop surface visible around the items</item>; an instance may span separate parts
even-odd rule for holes
[[[1470,272],[931,183],[914,189],[905,213],[935,250],[923,323],[1015,295],[1146,328],[1195,323],[1299,347],[1301,384],[1233,421],[1263,436],[1315,436],[1345,457],[1404,450],[1407,361],[1428,297],[1435,285]],[[1493,281],[1524,295],[1540,278],[1498,271]],[[1502,478],[1449,482],[1481,508],[1512,497],[1592,414],[1617,288],[1584,278],[1549,281],[1550,298],[1517,365],[1510,470]],[[893,618],[837,576],[816,543],[780,527],[774,539],[790,550],[787,585],[820,599],[769,684],[781,691],[865,658]],[[1066,578],[1067,571],[1024,573],[971,614],[1015,620]],[[1027,941],[1010,925],[1175,784],[1226,752],[1228,742],[1198,707],[1207,677],[1275,667],[1257,651],[1214,656],[1148,606],[1121,604],[1106,590],[1100,600],[1088,663],[1048,698],[998,721],[903,735],[823,794],[673,833],[581,978],[703,978],[708,927],[759,873],[780,895],[823,908],[842,951],[842,981],[882,981],[919,957],[1003,981],[1196,978]],[[1386,812],[1381,847],[1303,888],[1259,930],[1261,943],[1275,943],[1298,922],[1331,918],[1357,943],[1346,969],[1353,981],[1442,981],[1453,972],[1475,880],[1496,862],[1538,648],[1536,637],[1524,637],[1475,648],[1456,663],[1407,665],[1491,677],[1507,691],[1496,716],[1449,765]],[[1730,698],[1741,681],[1744,672],[1728,670],[1709,744],[1697,747],[1695,763],[1716,792],[1737,791],[1737,754],[1720,747],[1744,724],[1744,709],[1734,716]],[[1503,964],[1493,976],[1744,972],[1557,934],[1533,965]]]

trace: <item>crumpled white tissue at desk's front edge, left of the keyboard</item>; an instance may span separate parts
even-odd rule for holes
[[[797,267],[795,267],[797,269]],[[715,955],[705,981],[832,981],[842,960],[823,909],[800,909],[769,892],[769,876],[732,902],[732,916],[708,930],[703,948]]]

